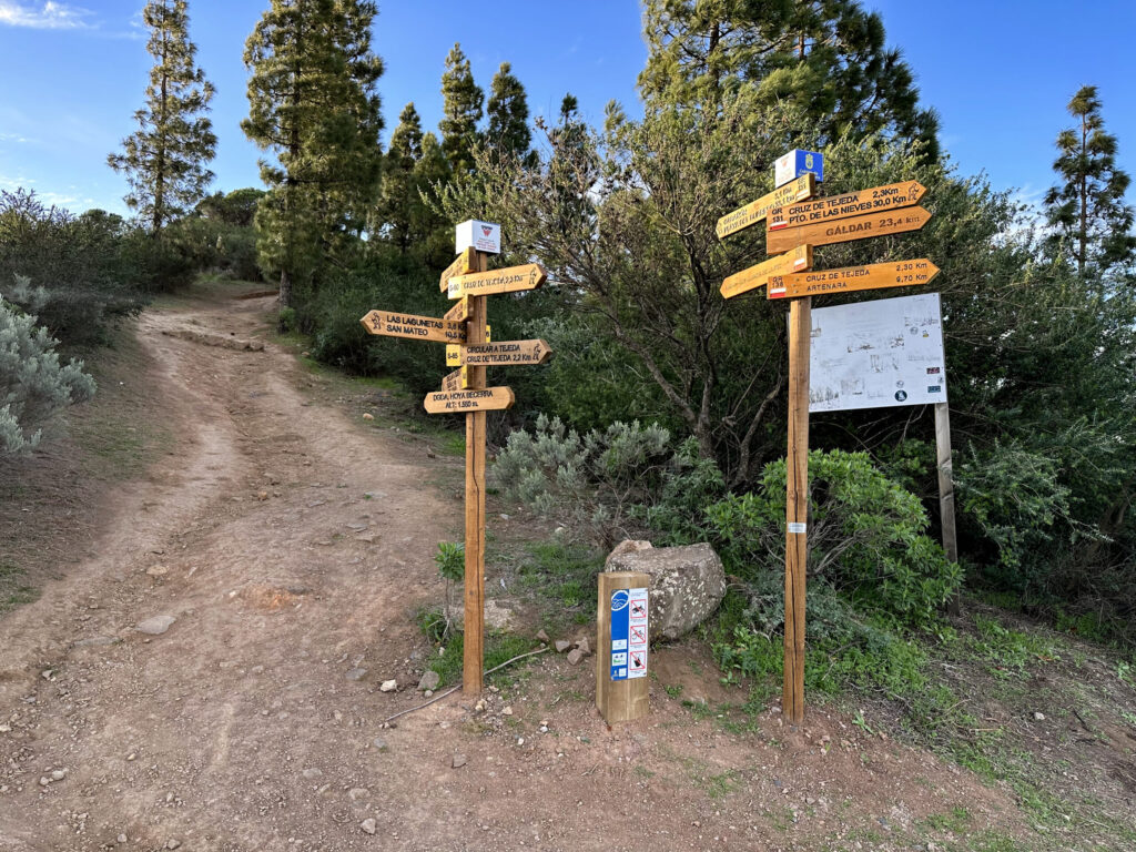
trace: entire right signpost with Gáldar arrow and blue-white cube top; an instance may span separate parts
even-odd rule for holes
[[[822,178],[824,158],[819,153],[791,151],[777,161],[778,189],[718,219],[716,228],[722,239],[765,220],[766,251],[775,256],[726,278],[721,285],[725,299],[765,286],[767,298],[790,300],[782,712],[794,725],[804,720],[812,295],[926,284],[938,272],[926,259],[813,270],[813,247],[917,231],[930,218],[924,208],[912,207],[926,191],[914,181],[813,198],[816,183]]]

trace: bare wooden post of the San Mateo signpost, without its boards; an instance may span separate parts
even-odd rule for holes
[[[488,256],[477,252],[477,269]],[[485,340],[485,296],[469,298],[467,340]],[[485,368],[469,368],[470,389],[485,387]],[[461,659],[461,691],[478,695],[485,659],[485,411],[466,415],[466,611]]]

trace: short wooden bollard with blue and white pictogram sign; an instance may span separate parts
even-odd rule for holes
[[[648,593],[640,571],[600,575],[596,605],[595,705],[611,725],[646,716],[649,708]]]

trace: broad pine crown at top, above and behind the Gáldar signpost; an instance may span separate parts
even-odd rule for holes
[[[938,156],[937,117],[919,107],[911,68],[859,0],[648,0],[643,20],[649,108],[718,106],[749,84],[767,103],[800,105],[821,143],[847,128],[885,130]]]

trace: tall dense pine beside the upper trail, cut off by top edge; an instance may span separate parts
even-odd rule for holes
[[[245,43],[245,135],[275,153],[257,211],[261,262],[281,270],[281,306],[362,229],[382,174],[383,128],[367,0],[272,0]]]

